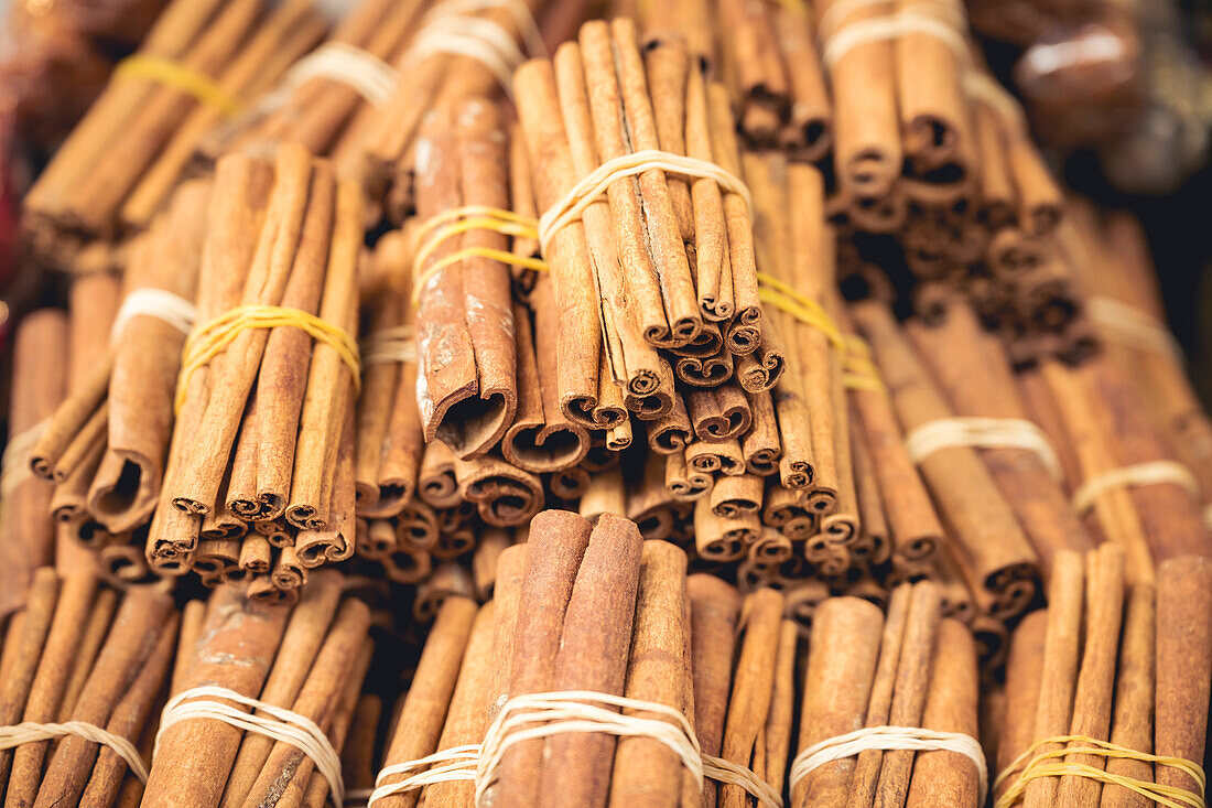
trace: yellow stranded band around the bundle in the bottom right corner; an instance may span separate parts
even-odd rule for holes
[[[1088,744],[1088,746],[1070,747],[1070,742]],[[1046,746],[1048,744],[1060,744],[1062,746],[1060,749],[1036,755],[1036,751],[1041,746]],[[1139,761],[1150,766],[1157,764],[1176,768],[1195,781],[1199,786],[1199,792],[1188,791],[1187,789],[1179,789],[1176,786],[1161,785],[1159,783],[1150,783],[1149,780],[1138,780],[1122,774],[1110,774],[1105,769],[1088,766],[1086,763],[1046,762],[1064,758],[1069,755],[1093,755],[1097,757]],[[1206,806],[1205,795],[1207,790],[1207,778],[1204,774],[1204,768],[1200,767],[1199,763],[1180,757],[1166,757],[1161,755],[1150,755],[1149,752],[1139,752],[1137,750],[1128,749],[1127,746],[1120,746],[1119,744],[1111,744],[1110,741],[1098,740],[1097,738],[1091,738],[1088,735],[1057,735],[1056,738],[1046,738],[1044,740],[1035,741],[1027,749],[1025,752],[1014,758],[1014,761],[997,775],[997,779],[994,780],[993,784],[994,790],[996,791],[1000,789],[1001,785],[1013,776],[1019,769],[1022,769],[1022,772],[1016,778],[1013,785],[1011,785],[1011,787],[997,798],[994,803],[994,808],[1010,808],[1013,806],[1014,802],[1023,796],[1023,792],[1027,790],[1027,784],[1031,780],[1059,778],[1065,775],[1088,778],[1107,785],[1116,785],[1138,793],[1145,800],[1156,802],[1160,806],[1166,806],[1167,808],[1205,808]]]

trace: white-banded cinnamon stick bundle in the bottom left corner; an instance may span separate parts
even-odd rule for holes
[[[120,596],[88,573],[34,573],[0,655],[6,804],[139,804],[178,628],[184,641],[164,591]]]

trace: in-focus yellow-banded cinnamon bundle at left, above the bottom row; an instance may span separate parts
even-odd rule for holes
[[[354,552],[361,201],[291,146],[273,169],[221,160],[213,200],[199,279],[204,323],[178,381],[179,454],[170,456],[148,557],[179,574],[193,553],[217,547],[200,539],[259,545],[262,533],[248,525],[285,519],[271,574],[240,565],[239,556],[256,553],[210,557],[221,577],[251,573],[255,597],[293,598],[307,569]],[[263,324],[245,328],[256,318]],[[215,451],[188,451],[182,440]],[[208,539],[221,516],[231,533]]]

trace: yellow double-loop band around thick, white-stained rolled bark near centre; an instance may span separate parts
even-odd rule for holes
[[[425,266],[425,261],[434,254],[434,250],[456,235],[462,235],[470,231],[491,231],[513,238],[537,239],[537,227],[538,222],[534,218],[488,205],[463,205],[462,207],[452,207],[430,217],[417,231],[416,235],[417,243],[422,246],[417,250],[417,255],[412,260],[413,303],[418,301],[421,290],[425,288],[425,284],[434,274],[465,258],[491,258],[515,267],[544,272],[547,262],[542,258],[532,258],[509,252],[508,250],[487,246],[464,247]]]

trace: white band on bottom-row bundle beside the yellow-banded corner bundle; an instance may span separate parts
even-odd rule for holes
[[[964,733],[944,733],[920,727],[867,727],[813,744],[796,755],[795,761],[791,762],[791,791],[795,791],[804,778],[825,763],[854,757],[867,750],[910,750],[962,755],[977,767],[977,783],[981,784],[981,797],[977,800],[977,804],[984,804],[989,784],[989,767],[985,763],[981,742]]]

